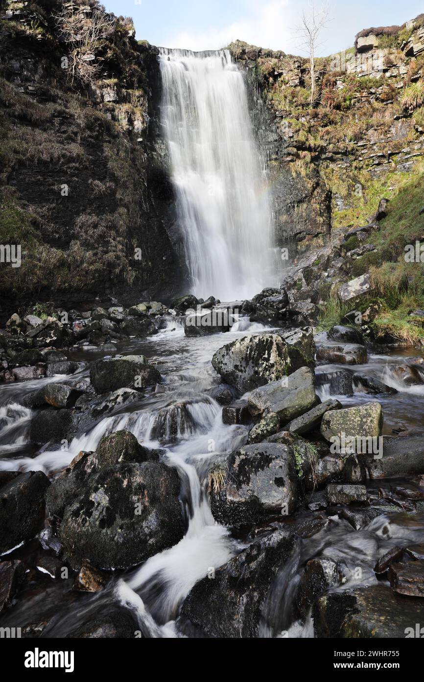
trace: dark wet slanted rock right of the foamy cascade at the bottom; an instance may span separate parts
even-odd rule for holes
[[[195,584],[182,604],[182,616],[208,637],[258,637],[261,605],[296,543],[286,530],[257,539],[216,569],[213,579],[203,578]]]

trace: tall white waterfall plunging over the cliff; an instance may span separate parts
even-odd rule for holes
[[[274,225],[242,73],[228,50],[161,48],[161,123],[191,291],[251,298],[276,284]]]

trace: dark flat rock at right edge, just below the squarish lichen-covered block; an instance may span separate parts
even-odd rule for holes
[[[397,478],[424,473],[424,441],[422,436],[385,439],[382,458],[367,456],[365,466],[372,479]]]

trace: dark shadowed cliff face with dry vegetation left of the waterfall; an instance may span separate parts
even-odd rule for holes
[[[67,6],[10,1],[0,14],[0,241],[25,254],[21,267],[2,267],[2,293],[68,305],[166,297],[182,264],[157,48],[104,12],[100,39],[89,29],[86,44],[73,42],[56,15]],[[83,29],[95,8],[80,5]]]

